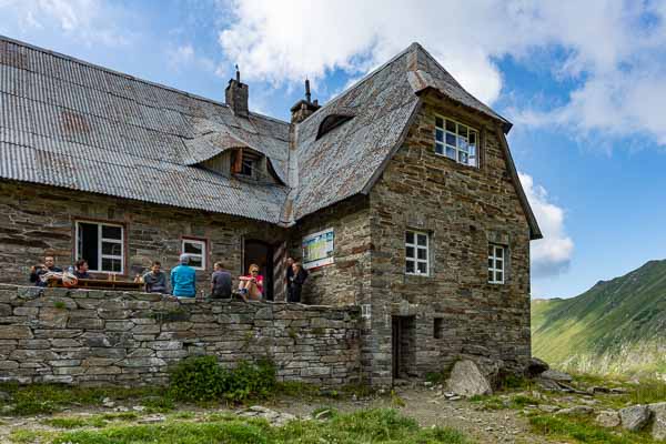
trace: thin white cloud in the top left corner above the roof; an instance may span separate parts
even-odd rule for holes
[[[0,0],[0,32],[30,37],[56,31],[91,46],[124,46],[132,31],[117,28],[124,10],[101,0]]]

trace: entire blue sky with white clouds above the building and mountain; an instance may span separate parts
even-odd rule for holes
[[[573,296],[666,256],[666,2],[0,0],[0,33],[287,119],[412,41],[514,122],[546,234],[533,296]]]

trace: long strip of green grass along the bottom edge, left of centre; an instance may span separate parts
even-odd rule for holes
[[[14,442],[64,444],[282,444],[282,443],[404,443],[467,444],[462,433],[443,427],[422,428],[416,421],[394,410],[369,410],[352,414],[332,412],[329,421],[292,421],[283,427],[272,427],[264,420],[209,415],[205,422],[168,421],[145,425],[110,425],[46,435],[12,435]],[[16,441],[16,440],[23,441]]]

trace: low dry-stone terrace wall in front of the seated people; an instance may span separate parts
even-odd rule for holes
[[[165,384],[170,365],[271,359],[280,381],[360,379],[356,307],[0,284],[0,381]]]

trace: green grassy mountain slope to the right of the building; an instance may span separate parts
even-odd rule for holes
[[[666,373],[666,260],[567,299],[532,302],[533,354],[592,373]]]

